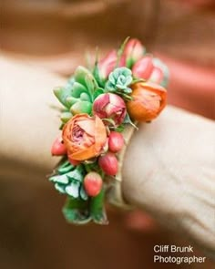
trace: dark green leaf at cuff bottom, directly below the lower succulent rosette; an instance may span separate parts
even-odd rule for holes
[[[69,223],[86,224],[91,221],[87,202],[79,199],[67,198],[67,202],[63,207],[63,214]]]

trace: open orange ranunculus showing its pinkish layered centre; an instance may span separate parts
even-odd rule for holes
[[[104,123],[97,116],[77,114],[67,121],[62,133],[67,154],[72,160],[88,160],[103,150],[107,140]]]

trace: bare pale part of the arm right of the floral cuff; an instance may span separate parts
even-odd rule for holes
[[[214,134],[212,121],[167,108],[128,145],[123,191],[128,202],[215,253]]]

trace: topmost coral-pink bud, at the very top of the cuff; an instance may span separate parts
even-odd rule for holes
[[[142,46],[141,42],[132,38],[129,39],[125,49],[124,54],[127,60],[127,66],[131,67],[136,61],[138,61],[141,57],[143,57],[146,49]]]

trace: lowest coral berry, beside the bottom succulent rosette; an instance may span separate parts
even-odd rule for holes
[[[101,191],[102,178],[95,171],[90,171],[84,178],[84,188],[88,196],[95,197]]]

